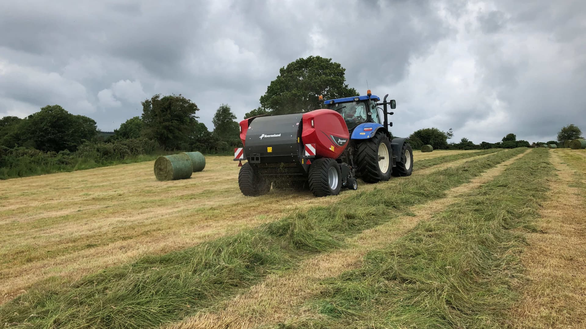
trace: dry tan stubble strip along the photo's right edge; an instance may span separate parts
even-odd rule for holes
[[[523,298],[510,316],[512,327],[586,328],[586,162],[573,151],[551,156],[558,176],[541,210],[543,233],[529,234],[522,256],[530,283],[519,287]]]

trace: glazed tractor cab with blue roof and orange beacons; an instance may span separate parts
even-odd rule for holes
[[[377,101],[380,101],[378,96],[370,95],[370,97],[356,96],[327,100],[323,104],[326,105],[326,108],[333,109],[341,114],[344,121],[346,121],[348,130],[352,132],[357,125],[364,122],[383,124],[379,109],[376,106]]]

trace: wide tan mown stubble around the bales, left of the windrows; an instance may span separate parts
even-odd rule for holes
[[[414,174],[483,157],[417,170],[420,160],[461,153],[473,151],[416,151]],[[231,157],[210,156],[206,162],[188,180],[156,181],[153,162],[143,162],[0,181],[0,302],[50,276],[77,279],[352,194],[318,199],[309,192],[271,191],[244,197]],[[359,190],[377,185],[362,183]]]

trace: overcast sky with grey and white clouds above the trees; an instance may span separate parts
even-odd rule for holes
[[[121,4],[124,3],[124,4]],[[454,140],[586,133],[586,1],[83,1],[0,4],[0,117],[47,104],[113,131],[156,93],[183,94],[213,129],[239,120],[279,68],[309,55],[350,87],[397,100],[393,133]]]

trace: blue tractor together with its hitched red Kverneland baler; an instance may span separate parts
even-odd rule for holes
[[[244,119],[244,147],[234,150],[240,191],[260,196],[271,186],[308,186],[321,197],[356,190],[357,178],[376,183],[409,176],[413,152],[405,138],[390,140],[387,115],[393,112],[387,105],[394,109],[396,103],[387,96],[377,103],[380,98],[369,90],[366,96],[326,100],[326,108],[311,112]]]

